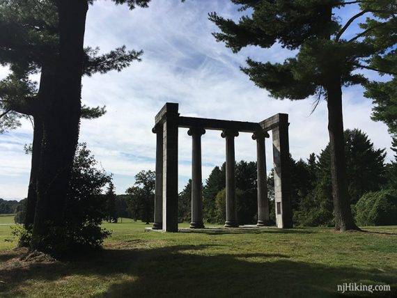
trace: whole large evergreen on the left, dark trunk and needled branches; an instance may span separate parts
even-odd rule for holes
[[[150,0],[114,0],[146,7]],[[0,85],[3,130],[17,116],[34,121],[26,226],[33,223],[32,249],[51,226],[65,223],[65,200],[79,136],[81,76],[121,70],[141,52],[121,47],[104,56],[87,48],[84,30],[92,0],[1,1],[0,63],[11,74]],[[85,54],[84,54],[85,53]],[[29,75],[40,72],[40,86]],[[103,113],[89,110],[91,115]],[[19,114],[18,114],[19,113]],[[33,222],[34,218],[34,222]],[[37,236],[37,237],[36,237]]]

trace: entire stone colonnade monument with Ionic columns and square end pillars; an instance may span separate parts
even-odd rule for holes
[[[157,134],[155,222],[153,229],[178,232],[178,128],[189,128],[192,136],[192,222],[190,228],[204,228],[201,197],[201,136],[205,130],[221,130],[226,140],[226,222],[225,227],[238,227],[235,196],[234,139],[239,132],[252,133],[256,140],[258,174],[258,224],[269,225],[267,198],[265,138],[272,130],[274,162],[274,201],[278,228],[292,228],[290,206],[290,152],[288,114],[277,113],[260,123],[207,118],[182,117],[178,104],[167,102],[155,116],[153,132]]]

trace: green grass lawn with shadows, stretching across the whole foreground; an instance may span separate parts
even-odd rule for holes
[[[344,297],[397,297],[396,226],[157,233],[123,219],[104,227],[114,233],[103,251],[63,262],[20,260],[1,243],[0,297],[338,297],[343,283],[391,285]],[[0,233],[3,242],[9,228]]]

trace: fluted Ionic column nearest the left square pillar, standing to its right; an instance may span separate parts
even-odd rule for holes
[[[192,136],[192,222],[190,228],[204,228],[201,197],[201,136],[205,134],[205,130],[192,127],[187,134]]]

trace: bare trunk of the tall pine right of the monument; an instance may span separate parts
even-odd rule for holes
[[[357,230],[350,210],[346,181],[345,141],[343,136],[341,79],[336,76],[327,86],[328,132],[331,154],[332,196],[336,230]]]

